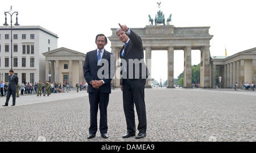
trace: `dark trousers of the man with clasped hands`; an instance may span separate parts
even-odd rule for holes
[[[90,102],[90,134],[97,132],[97,113],[100,108],[100,132],[101,134],[108,132],[107,108],[109,104],[109,94],[102,94],[100,91],[89,93]],[[100,107],[99,107],[100,105]]]

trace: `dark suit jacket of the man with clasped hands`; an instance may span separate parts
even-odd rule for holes
[[[110,60],[110,55],[112,55],[112,60]],[[108,67],[109,71],[104,71],[104,78],[98,78],[98,70],[101,69],[101,67],[104,66],[105,63],[102,63],[102,66],[98,66],[98,59],[97,59],[97,49],[92,50],[88,53],[86,53],[85,56],[85,62],[84,62],[84,78],[86,82],[88,82],[88,93],[94,93],[98,92],[100,90],[101,93],[110,94],[111,93],[111,80],[114,77],[115,73],[115,58],[114,54],[104,50],[104,53],[102,55],[101,59],[106,59],[108,61]],[[92,80],[103,80],[104,84],[97,90],[96,88],[93,88],[90,82]]]

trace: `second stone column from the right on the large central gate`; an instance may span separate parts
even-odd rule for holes
[[[191,46],[184,48],[184,83],[185,88],[192,87],[192,70],[191,70]]]

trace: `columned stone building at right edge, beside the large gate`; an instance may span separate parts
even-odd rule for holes
[[[244,50],[229,57],[211,57],[212,84],[216,86],[216,67],[222,77],[221,87],[229,88],[237,82],[240,88],[243,82],[256,82],[256,48]]]

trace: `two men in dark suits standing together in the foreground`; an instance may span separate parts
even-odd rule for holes
[[[144,86],[146,78],[148,78],[148,70],[144,73],[143,69],[135,71],[134,67],[146,67],[144,60],[144,52],[141,37],[133,32],[126,25],[119,24],[119,28],[115,32],[118,39],[123,43],[123,47],[119,52],[119,57],[122,63],[120,75],[120,87],[123,94],[123,111],[125,113],[127,133],[122,138],[134,137],[136,133],[134,104],[138,114],[138,130],[139,133],[136,139],[146,137],[147,119],[146,119],[146,105],[144,101]],[[95,43],[97,49],[86,53],[84,62],[84,78],[88,82],[89,103],[90,103],[90,127],[88,139],[92,139],[97,133],[97,112],[100,108],[100,133],[102,138],[108,138],[108,116],[107,107],[109,103],[109,94],[113,87],[111,84],[114,76],[115,59],[114,55],[108,52],[104,46],[108,44],[107,37],[104,34],[96,36]],[[102,59],[104,64],[101,64]],[[141,63],[129,64],[131,60],[141,60]],[[108,61],[108,62],[106,62]],[[106,65],[108,63],[108,65]],[[104,66],[103,66],[104,65]],[[132,67],[129,67],[132,66]],[[104,70],[104,77],[98,75],[102,67],[108,67]],[[130,68],[130,69],[129,69]],[[126,77],[127,76],[127,77]],[[139,77],[138,77],[139,76]]]

